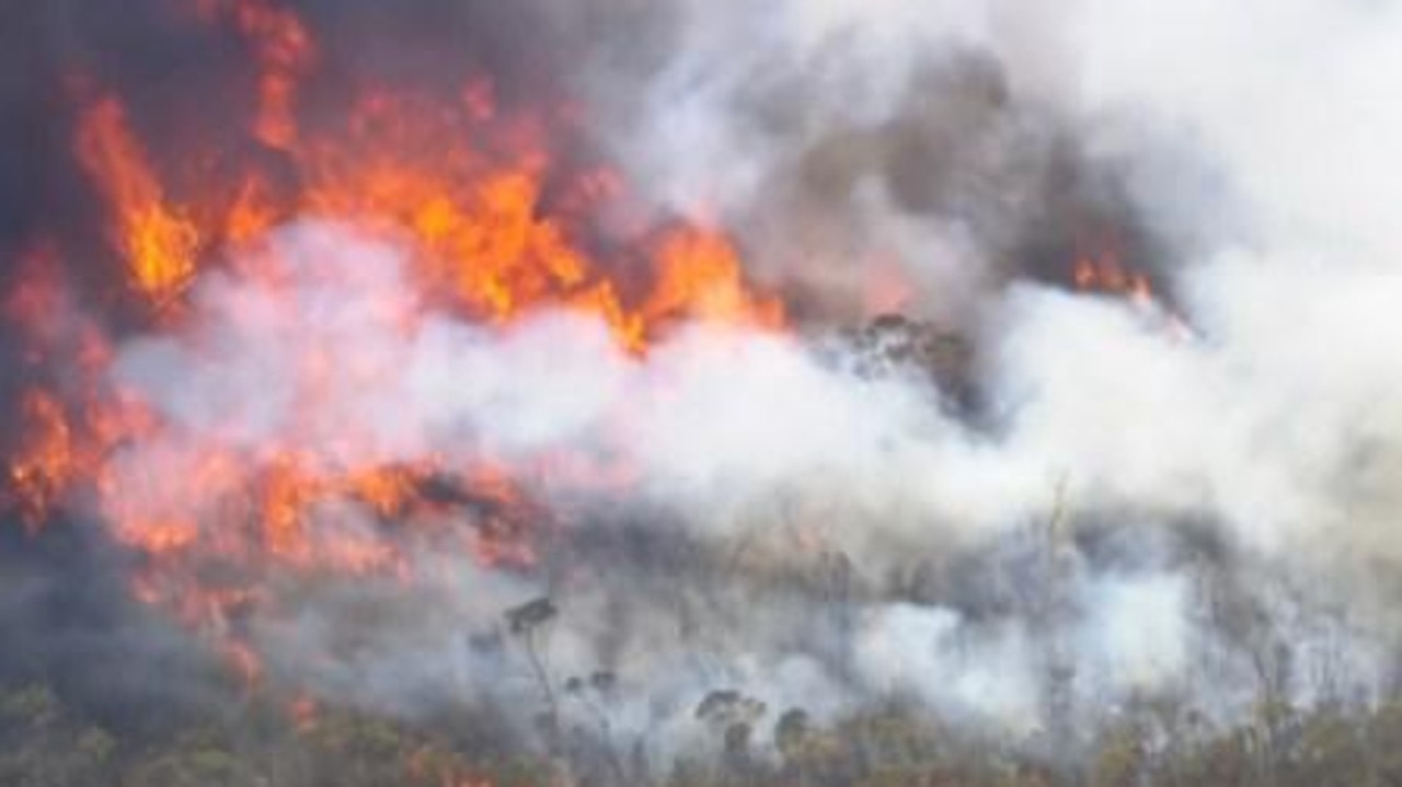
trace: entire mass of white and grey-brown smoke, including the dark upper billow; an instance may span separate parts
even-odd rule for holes
[[[345,73],[451,49],[401,57],[329,6],[306,11]],[[635,356],[579,314],[435,311],[394,237],[303,220],[231,252],[182,333],[119,344],[112,382],[170,429],[119,450],[109,504],[215,521],[193,485],[142,480],[215,445],[352,475],[491,461],[552,522],[538,562],[492,566],[415,529],[489,528],[472,506],[386,531],[320,503],[314,531],[402,542],[416,580],[278,577],[237,626],[279,681],[523,734],[550,710],[658,756],[735,720],[698,713],[716,690],[763,703],[732,703],[747,721],[914,697],[1035,746],[1143,696],[1225,721],[1260,692],[1394,688],[1395,8],[447,6],[395,29],[477,29],[464,57],[520,95],[580,94],[639,209],[733,228],[801,325],[683,325]],[[1067,288],[1105,248],[1157,304]],[[976,347],[976,405],[838,330],[890,309]],[[503,619],[547,597],[538,630]]]

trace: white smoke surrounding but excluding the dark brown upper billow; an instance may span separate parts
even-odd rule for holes
[[[802,335],[693,325],[639,358],[576,314],[501,328],[416,316],[393,241],[301,224],[269,239],[287,280],[210,274],[189,335],[123,347],[118,381],[175,429],[164,443],[125,448],[118,478],[151,468],[179,478],[191,472],[189,447],[210,441],[257,459],[310,451],[345,471],[488,457],[526,473],[566,447],[637,475],[624,499],[603,492],[586,511],[656,513],[648,527],[743,555],[737,574],[841,555],[858,576],[859,591],[815,601],[751,576],[709,595],[693,594],[687,577],[669,578],[670,588],[651,577],[634,595],[617,578],[544,587],[437,566],[450,578],[409,622],[362,623],[313,599],[301,616],[262,623],[275,662],[318,675],[325,662],[313,668],[303,655],[327,650],[334,622],[363,625],[373,643],[331,660],[322,679],[376,702],[402,703],[394,695],[407,683],[429,695],[444,681],[468,697],[533,695],[519,650],[464,655],[454,632],[491,629],[505,606],[547,591],[562,609],[550,669],[615,668],[632,693],[613,713],[639,732],[694,725],[700,695],[739,688],[775,709],[826,696],[829,713],[910,690],[941,713],[1030,734],[1047,724],[1053,662],[1070,665],[1091,704],[1169,690],[1213,702],[1216,688],[1249,672],[1231,637],[1193,609],[1207,569],[1145,546],[1152,535],[1143,545],[1130,536],[1143,555],[1129,567],[1080,557],[1026,578],[1029,592],[1066,595],[1056,613],[1004,604],[1021,598],[1023,580],[994,577],[997,560],[976,574],[998,598],[991,611],[883,585],[908,564],[1016,552],[1028,532],[1046,539],[1047,555],[1075,550],[1082,520],[1136,534],[1206,521],[1224,549],[1315,587],[1321,605],[1357,602],[1366,612],[1347,641],[1357,681],[1371,688],[1395,627],[1368,571],[1402,559],[1402,356],[1392,347],[1402,235],[1391,216],[1402,204],[1402,17],[1315,0],[1084,0],[1057,14],[994,1],[907,6],[681,4],[679,50],[642,85],[642,115],[655,122],[614,137],[625,164],[673,207],[743,216],[792,151],[833,126],[872,127],[904,112],[928,57],[986,50],[1009,90],[1073,118],[1091,147],[1134,160],[1144,146],[1145,164],[1129,171],[1150,221],[1210,228],[1211,248],[1169,262],[1172,308],[1190,330],[1129,302],[995,286],[990,270],[1005,249],[983,248],[949,217],[894,216],[890,195],[858,182],[851,204],[866,237],[841,253],[889,244],[917,284],[913,308],[958,311],[970,326],[991,422],[972,424],[908,370],[859,374]],[[788,95],[789,83],[799,118],[767,134],[746,101]],[[620,101],[596,92],[604,106]],[[1196,183],[1158,179],[1164,129],[1224,174],[1231,221],[1197,207]],[[1004,150],[990,144],[959,150]],[[1019,214],[1028,195],[1011,196],[1008,214]],[[751,230],[758,269],[829,274],[829,259],[802,244],[801,259],[764,258],[788,225]],[[564,479],[533,473],[547,501],[578,504]],[[189,503],[170,494],[171,506]],[[1000,583],[1012,590],[993,590]],[[845,605],[857,608],[852,620],[838,620]],[[679,623],[683,608],[704,620],[700,632]],[[1287,618],[1280,636],[1301,653],[1338,636]]]

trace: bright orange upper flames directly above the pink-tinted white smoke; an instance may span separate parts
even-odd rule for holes
[[[250,171],[227,189],[236,196],[223,210],[191,210],[164,199],[112,97],[84,113],[79,150],[116,214],[112,235],[132,288],[157,308],[178,298],[213,239],[251,242],[290,206],[294,214],[408,232],[423,290],[492,322],[541,305],[573,308],[603,319],[620,344],[635,351],[679,319],[782,325],[780,301],[749,291],[730,241],[687,224],[656,232],[651,252],[644,252],[649,291],[624,297],[620,281],[582,248],[571,225],[575,216],[547,210],[545,182],[555,174],[538,147],[538,122],[501,120],[486,97],[486,88],[468,87],[461,104],[443,108],[374,92],[352,112],[348,134],[299,143],[299,134],[279,133],[301,188],[276,193],[261,172]],[[479,129],[481,122],[495,125]],[[471,132],[495,139],[484,148],[442,150],[443,140],[470,139]],[[615,193],[618,183],[611,172],[590,171],[565,183],[557,199],[582,213]],[[209,217],[203,225],[189,218],[196,213]]]

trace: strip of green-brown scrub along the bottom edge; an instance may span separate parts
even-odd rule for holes
[[[4,787],[1402,787],[1402,702],[1377,707],[1262,703],[1239,727],[1154,704],[1126,709],[1089,751],[1033,758],[1019,746],[883,707],[820,723],[771,714],[739,693],[702,703],[711,744],[663,773],[590,766],[355,709],[293,714],[268,697],[165,732],[107,730],[42,685],[0,690]],[[495,742],[494,742],[495,741]]]

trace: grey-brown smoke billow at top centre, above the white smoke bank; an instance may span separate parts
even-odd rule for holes
[[[737,227],[805,312],[972,321],[1009,279],[1066,281],[1105,248],[1166,286],[1171,258],[1225,220],[1211,155],[1077,95],[1077,15],[677,6],[670,57],[586,71],[582,90],[637,182]],[[1161,210],[1168,178],[1195,216]]]

